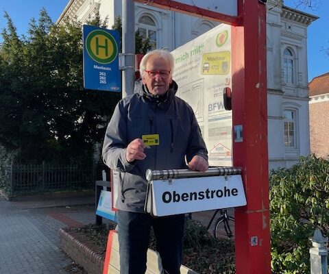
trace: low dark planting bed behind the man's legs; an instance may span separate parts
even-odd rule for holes
[[[109,229],[116,225],[110,221]],[[106,225],[86,225],[73,231],[92,240],[101,247],[105,256],[108,229]],[[234,274],[234,241],[226,238],[214,238],[201,223],[186,220],[184,233],[182,264],[200,274]],[[154,233],[151,231],[149,248],[156,250]]]

